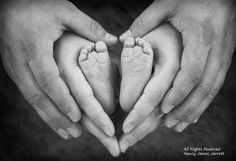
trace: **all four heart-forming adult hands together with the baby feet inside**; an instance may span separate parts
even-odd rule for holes
[[[181,132],[196,122],[221,88],[236,44],[234,0],[155,0],[120,36],[121,91],[115,89],[113,96],[112,79],[116,87],[119,82],[110,69],[117,67],[106,45],[97,41],[111,45],[116,36],[66,0],[0,3],[3,64],[26,100],[65,139],[80,134],[76,122],[82,109],[81,124],[113,155],[160,124],[159,105],[168,113],[164,124],[169,128]],[[66,31],[96,44],[64,34],[56,51],[67,54],[58,54],[57,66],[54,43]],[[131,110],[119,143],[108,116],[118,95],[121,108]]]

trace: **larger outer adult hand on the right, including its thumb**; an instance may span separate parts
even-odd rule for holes
[[[169,112],[167,127],[176,125],[176,131],[183,131],[200,117],[221,88],[236,42],[235,12],[234,0],[156,0],[121,35],[121,40],[140,37],[163,21],[181,33],[181,70],[161,103],[162,111]],[[151,109],[161,102],[158,96]],[[132,130],[149,114],[141,112],[136,123],[130,124],[131,118],[124,129]]]

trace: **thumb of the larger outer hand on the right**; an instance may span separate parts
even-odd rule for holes
[[[170,15],[173,6],[172,0],[155,0],[134,20],[129,30],[120,36],[120,41],[124,42],[131,36],[142,37],[164,21]]]

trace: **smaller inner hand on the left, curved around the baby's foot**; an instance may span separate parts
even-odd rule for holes
[[[78,35],[66,32],[55,43],[54,58],[60,75],[83,111],[80,124],[97,137],[113,156],[117,156],[120,150],[114,136],[114,125],[95,97],[94,90],[78,64],[80,51],[92,43]]]

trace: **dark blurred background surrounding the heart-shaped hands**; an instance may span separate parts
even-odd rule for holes
[[[75,1],[76,2],[76,1]],[[120,35],[151,1],[79,0],[82,11],[104,28]],[[121,45],[112,47],[121,52]],[[160,127],[113,158],[92,135],[84,132],[78,139],[61,139],[23,99],[0,63],[0,161],[12,160],[232,160],[236,152],[236,55],[225,84],[197,124],[183,133]],[[184,147],[221,147],[225,155],[190,157]]]

